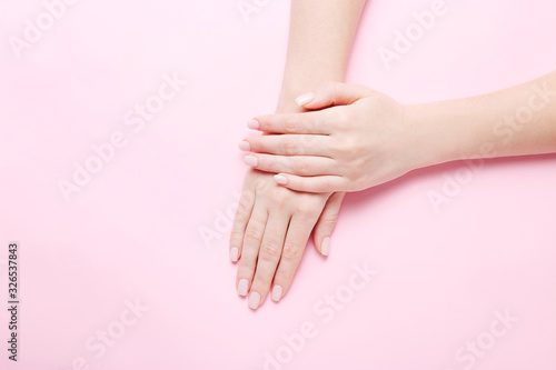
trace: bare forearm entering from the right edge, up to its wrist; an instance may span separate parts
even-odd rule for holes
[[[467,99],[409,106],[426,166],[460,159],[556,152],[556,71]],[[428,141],[428,142],[427,142]]]

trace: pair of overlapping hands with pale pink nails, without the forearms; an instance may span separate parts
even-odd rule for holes
[[[236,287],[257,309],[271,290],[288,291],[315,228],[316,248],[329,253],[330,233],[346,191],[395,179],[426,161],[427,136],[406,106],[363,86],[327,83],[297,100],[302,113],[256,117],[265,134],[239,148],[251,153],[230,236],[239,260]]]

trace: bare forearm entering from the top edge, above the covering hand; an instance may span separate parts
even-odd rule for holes
[[[342,81],[366,0],[292,0],[288,53],[278,110],[326,81]]]

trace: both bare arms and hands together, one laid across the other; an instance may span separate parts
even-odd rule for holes
[[[249,127],[265,134],[240,142],[254,168],[244,182],[230,259],[239,261],[236,289],[249,296],[251,309],[269,292],[275,301],[286,294],[311,230],[317,250],[328,254],[346,191],[445,161],[556,152],[554,73],[487,96],[416,106],[338,83],[364,4],[292,1],[276,114],[251,120]],[[532,99],[535,87],[548,92]],[[518,116],[532,102],[530,117]]]

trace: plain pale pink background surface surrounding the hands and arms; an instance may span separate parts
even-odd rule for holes
[[[554,1],[447,6],[386,70],[377,49],[430,1],[369,3],[348,80],[425,102],[556,68]],[[310,243],[287,297],[254,312],[235,290],[225,214],[241,189],[245,122],[277,102],[289,2],[246,22],[236,0],[83,0],[18,60],[8,38],[43,11],[39,0],[0,3],[0,260],[9,241],[21,249],[20,361],[7,360],[2,308],[1,369],[87,369],[79,358],[107,370],[264,369],[266,353],[285,362],[267,369],[556,368],[556,156],[487,161],[439,212],[427,193],[465,164],[349,194],[330,256]],[[165,73],[188,83],[133,132],[126,112]],[[115,131],[126,147],[66,202],[57,182]],[[203,241],[208,229],[219,238]],[[365,261],[378,273],[341,296]],[[1,263],[0,276],[4,307]],[[347,302],[326,321],[318,307],[336,293]],[[148,310],[122,327],[136,299]],[[495,338],[506,310],[518,322]],[[299,339],[304,322],[317,333],[292,351],[282,336]],[[98,356],[87,343],[107,330],[118,338]],[[488,350],[473,366],[456,359],[478,340]]]

